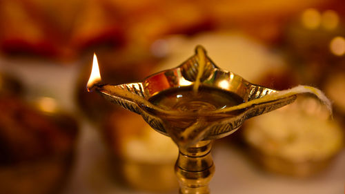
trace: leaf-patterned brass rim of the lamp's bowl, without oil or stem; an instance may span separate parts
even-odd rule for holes
[[[116,86],[102,85],[97,90],[115,104],[140,114],[152,128],[164,135],[168,135],[166,133],[166,120],[184,119],[184,117],[190,117],[190,114],[195,113],[177,113],[177,110],[164,110],[151,104],[148,99],[171,88],[181,88],[195,84],[199,68],[198,54],[200,53],[198,52],[204,52],[203,54],[206,56],[204,48],[200,48],[202,47],[197,46],[195,55],[177,66],[177,68],[157,72],[141,82]],[[250,104],[250,101],[276,93],[277,90],[251,84],[233,72],[218,68],[207,56],[205,58],[206,64],[200,79],[201,86],[235,93],[244,99],[242,105],[248,103],[249,105],[197,113],[195,117],[218,117],[221,115],[217,122],[208,122],[206,126],[203,126],[205,133],[207,133],[203,134],[203,139],[217,139],[229,135],[239,128],[246,119],[275,110],[295,100],[295,95],[291,95],[280,99],[267,99],[266,101],[257,101],[257,103]],[[224,117],[224,115],[228,115],[228,117]]]

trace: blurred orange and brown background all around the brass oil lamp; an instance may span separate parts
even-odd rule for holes
[[[344,193],[342,0],[1,0],[0,194],[177,193],[177,147],[140,116],[87,93],[173,68],[197,44],[219,67],[313,97],[215,142],[213,194]]]

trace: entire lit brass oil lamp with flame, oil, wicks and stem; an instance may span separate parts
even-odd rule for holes
[[[96,90],[143,119],[179,147],[175,173],[180,193],[210,193],[215,173],[212,142],[235,132],[246,119],[293,103],[299,93],[312,93],[331,110],[321,91],[310,86],[273,90],[250,84],[239,75],[221,70],[202,46],[177,68],[157,72],[144,81],[102,84],[94,55],[88,90]],[[269,126],[268,126],[269,127]]]

